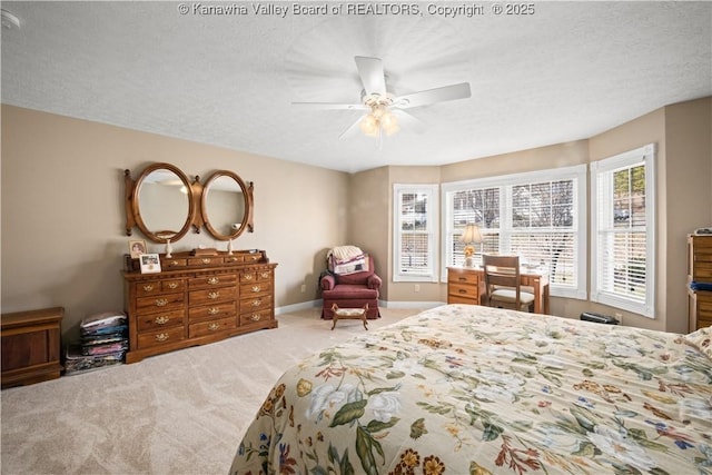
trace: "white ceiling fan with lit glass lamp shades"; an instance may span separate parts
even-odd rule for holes
[[[380,141],[383,133],[387,136],[395,133],[400,129],[400,125],[422,133],[425,130],[425,123],[405,109],[471,97],[468,82],[395,96],[386,89],[386,75],[379,58],[357,56],[354,59],[364,86],[360,103],[291,102],[294,106],[318,110],[363,110],[365,115],[339,136],[342,139],[352,137],[360,130],[366,136],[376,137]]]

